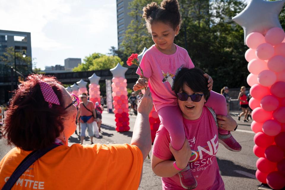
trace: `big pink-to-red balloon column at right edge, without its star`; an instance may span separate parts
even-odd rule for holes
[[[245,57],[248,63],[248,85],[252,98],[251,129],[254,136],[256,177],[273,189],[285,186],[285,33],[272,28],[265,36],[258,32],[246,37],[250,48]],[[283,42],[282,42],[283,41]]]

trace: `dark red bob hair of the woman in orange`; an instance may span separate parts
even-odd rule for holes
[[[60,105],[51,108],[45,102],[39,82],[43,81],[52,87]],[[66,115],[60,84],[55,77],[29,75],[15,91],[5,118],[4,136],[8,144],[33,151],[50,146],[63,131],[63,120]]]

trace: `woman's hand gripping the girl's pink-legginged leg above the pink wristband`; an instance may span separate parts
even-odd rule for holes
[[[179,167],[180,169],[184,169],[187,166],[192,154],[188,140],[185,139],[184,144],[179,151],[172,148],[170,143],[169,143],[169,149],[176,160],[177,167]]]

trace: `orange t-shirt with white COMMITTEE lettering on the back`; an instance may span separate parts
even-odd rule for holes
[[[31,151],[13,148],[0,162],[0,189]],[[138,189],[143,155],[135,145],[61,145],[32,164],[12,189]]]

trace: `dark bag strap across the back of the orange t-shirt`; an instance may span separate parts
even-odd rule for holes
[[[12,173],[8,181],[2,187],[2,190],[10,190],[15,185],[17,180],[21,177],[21,175],[34,163],[37,159],[45,155],[48,151],[58,147],[60,145],[53,144],[48,148],[37,150],[31,152],[23,161],[18,165],[16,170]]]

